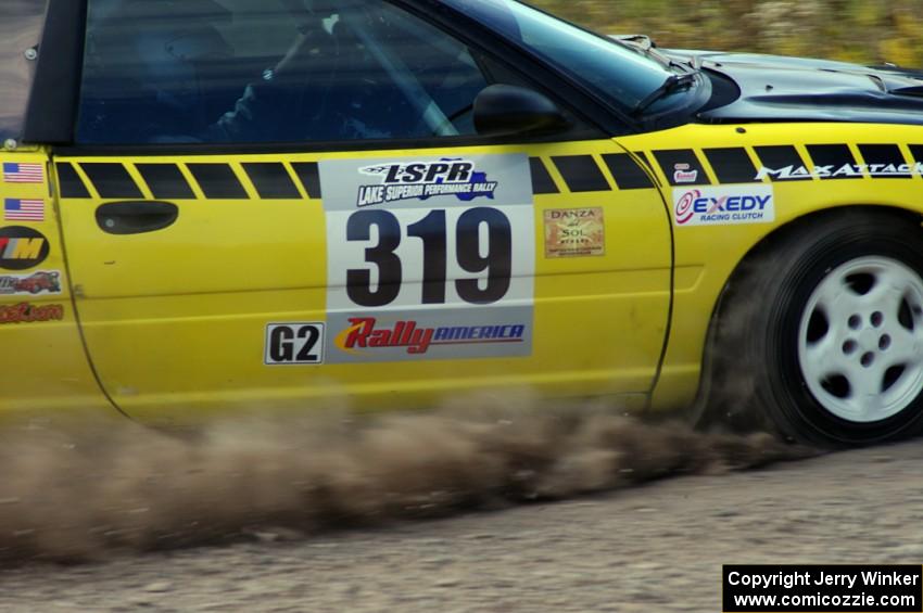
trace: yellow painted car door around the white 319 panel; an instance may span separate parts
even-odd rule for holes
[[[325,212],[320,200],[306,197],[304,184],[299,199],[260,199],[241,165],[281,162],[294,177],[295,165],[325,159],[506,153],[541,159],[559,191],[534,196],[531,356],[264,366],[268,322],[325,320]],[[432,405],[503,388],[553,396],[645,394],[667,327],[669,217],[653,184],[614,189],[598,157],[603,153],[624,152],[612,141],[592,141],[319,155],[59,157],[59,168],[72,165],[89,189],[90,197],[63,197],[61,209],[93,366],[114,401],[143,419],[227,407],[323,406],[342,398],[362,408]],[[594,156],[607,184],[572,193],[551,159],[560,155]],[[180,208],[174,226],[112,235],[96,220],[97,207],[112,199],[100,197],[86,173],[93,163],[123,164],[146,200],[152,193],[137,164],[179,164],[187,179],[189,164],[229,164],[246,197],[208,199],[195,187],[195,199],[170,200]],[[604,209],[605,254],[546,258],[544,212],[582,207]],[[514,237],[514,248],[516,242]]]

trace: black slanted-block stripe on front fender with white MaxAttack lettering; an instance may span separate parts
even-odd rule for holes
[[[806,155],[802,155],[802,151]],[[671,186],[753,183],[769,180],[912,179],[923,175],[923,145],[791,144],[650,152]],[[857,155],[858,153],[858,155]],[[715,181],[706,171],[706,163]]]

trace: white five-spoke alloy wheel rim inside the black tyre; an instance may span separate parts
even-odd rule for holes
[[[871,423],[900,413],[923,391],[923,279],[884,256],[836,267],[801,314],[798,360],[833,416]]]

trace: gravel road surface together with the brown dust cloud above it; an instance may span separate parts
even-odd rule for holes
[[[913,442],[821,456],[524,397],[0,438],[2,611],[711,611],[722,563],[923,555]]]

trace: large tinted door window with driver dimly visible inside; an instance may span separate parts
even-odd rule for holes
[[[89,0],[76,140],[473,135],[485,66],[382,0]]]

